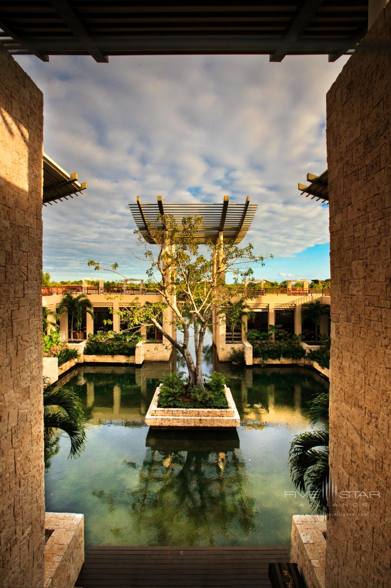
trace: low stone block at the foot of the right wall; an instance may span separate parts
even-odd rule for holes
[[[325,588],[326,517],[304,515],[292,517],[291,562],[307,588]]]

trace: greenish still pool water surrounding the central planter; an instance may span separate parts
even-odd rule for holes
[[[204,367],[212,369],[207,354]],[[328,383],[298,368],[215,367],[228,379],[238,429],[149,430],[144,416],[167,363],[80,366],[68,376],[83,402],[88,442],[71,460],[69,439],[60,436],[45,473],[46,510],[83,513],[86,548],[289,549],[292,515],[311,508],[305,498],[285,497],[293,490],[288,450],[310,428],[308,400]]]

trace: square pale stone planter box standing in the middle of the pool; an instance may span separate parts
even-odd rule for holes
[[[239,427],[240,418],[231,391],[225,387],[227,409],[220,408],[158,408],[160,386],[157,387],[145,425],[157,427]]]

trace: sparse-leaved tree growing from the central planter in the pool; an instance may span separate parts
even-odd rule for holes
[[[220,310],[227,308],[243,280],[253,276],[249,263],[264,265],[264,258],[254,255],[252,245],[239,248],[223,240],[200,245],[194,238],[202,224],[200,216],[183,218],[181,227],[172,216],[158,215],[157,221],[161,221],[164,230],[152,228],[150,224],[148,230],[158,245],[158,253],[154,254],[146,248],[145,258],[151,263],[147,270],[148,280],[163,300],[140,306],[138,299],[135,299],[126,309],[115,312],[130,326],[154,325],[185,359],[189,387],[197,385],[203,388],[202,349],[206,329],[210,322],[217,320]],[[142,243],[140,232],[135,233]],[[90,259],[88,265],[96,270],[120,273],[117,271],[118,263],[103,268]],[[232,274],[236,288],[226,284],[226,273]],[[158,320],[159,313],[164,314],[166,310],[171,315],[169,322],[183,331],[182,343],[171,336],[164,320]],[[195,362],[189,350],[191,326],[194,326],[196,335]]]

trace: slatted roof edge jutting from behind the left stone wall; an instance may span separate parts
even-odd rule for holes
[[[46,153],[43,153],[43,206],[48,203],[62,201],[62,198],[79,196],[79,192],[87,188],[87,182],[77,181],[77,173],[68,173],[60,168]]]

